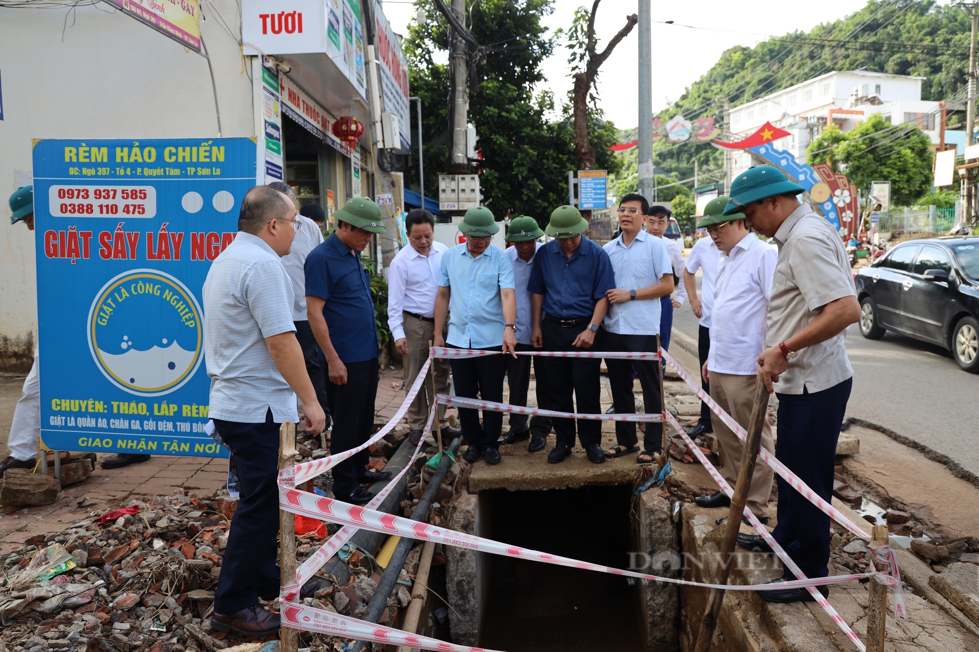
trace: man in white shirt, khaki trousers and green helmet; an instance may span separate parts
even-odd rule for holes
[[[727,198],[719,198],[726,206]],[[751,421],[758,382],[758,356],[765,350],[771,282],[778,252],[745,226],[744,215],[715,214],[697,224],[706,227],[721,258],[714,280],[711,350],[702,374],[709,379],[711,397],[743,428]],[[744,443],[721,419],[715,427],[720,445],[721,475],[733,487],[741,470]],[[762,445],[772,450],[771,426],[763,421]],[[748,508],[762,523],[769,522],[769,497],[774,471],[758,460],[748,491]],[[723,507],[730,500],[718,491],[695,498],[704,507]],[[741,519],[747,523],[745,517]]]

